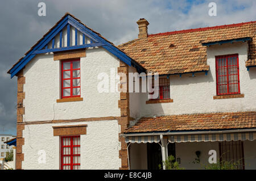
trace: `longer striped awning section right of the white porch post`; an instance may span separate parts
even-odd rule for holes
[[[199,141],[253,141],[256,139],[256,132],[243,133],[220,133],[220,134],[183,134],[169,135],[169,142],[199,142]]]

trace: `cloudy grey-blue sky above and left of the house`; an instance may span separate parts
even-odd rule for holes
[[[46,3],[46,16],[38,3]],[[217,16],[209,16],[210,2]],[[16,134],[16,83],[7,71],[65,14],[115,45],[138,37],[137,20],[150,23],[148,33],[217,26],[256,20],[255,0],[8,0],[0,2],[0,134]]]

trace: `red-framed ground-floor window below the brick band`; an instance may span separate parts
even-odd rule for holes
[[[61,170],[80,170],[80,136],[61,137]]]

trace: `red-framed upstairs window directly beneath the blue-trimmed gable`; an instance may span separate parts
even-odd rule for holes
[[[80,97],[80,60],[61,61],[61,98]]]

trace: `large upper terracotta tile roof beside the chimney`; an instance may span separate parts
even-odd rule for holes
[[[196,28],[149,35],[118,47],[142,64],[148,72],[159,74],[209,70],[206,47],[201,43],[251,37],[251,60],[256,58],[256,21],[224,26]]]

